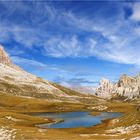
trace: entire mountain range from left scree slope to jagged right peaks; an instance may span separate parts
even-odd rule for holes
[[[0,46],[0,93],[79,102],[80,97],[86,96],[79,92],[108,99],[114,96],[128,99],[139,98],[140,74],[135,77],[122,75],[116,83],[103,78],[97,88],[80,86],[68,89],[24,71],[12,63],[4,47]]]

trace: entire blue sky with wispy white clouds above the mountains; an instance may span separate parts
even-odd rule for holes
[[[140,2],[0,0],[0,44],[26,71],[95,86],[140,71]]]

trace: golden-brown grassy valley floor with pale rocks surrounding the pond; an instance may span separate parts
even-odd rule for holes
[[[91,100],[94,100],[94,98]],[[139,140],[139,101],[91,103],[49,102],[45,99],[0,95],[0,140]],[[119,118],[88,128],[42,129],[35,125],[59,120],[32,116],[33,112],[102,111],[123,112]]]

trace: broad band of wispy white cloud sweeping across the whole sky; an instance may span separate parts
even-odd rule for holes
[[[49,3],[2,2],[0,6],[5,9],[0,14],[1,42],[14,40],[25,47],[38,46],[43,55],[50,57],[94,56],[140,65],[139,26],[135,24],[140,20],[137,2],[129,5],[132,15],[128,19],[124,16],[126,3],[119,5],[113,18],[93,19],[62,11]],[[17,18],[11,21],[15,13]],[[81,34],[86,35],[81,38]]]

